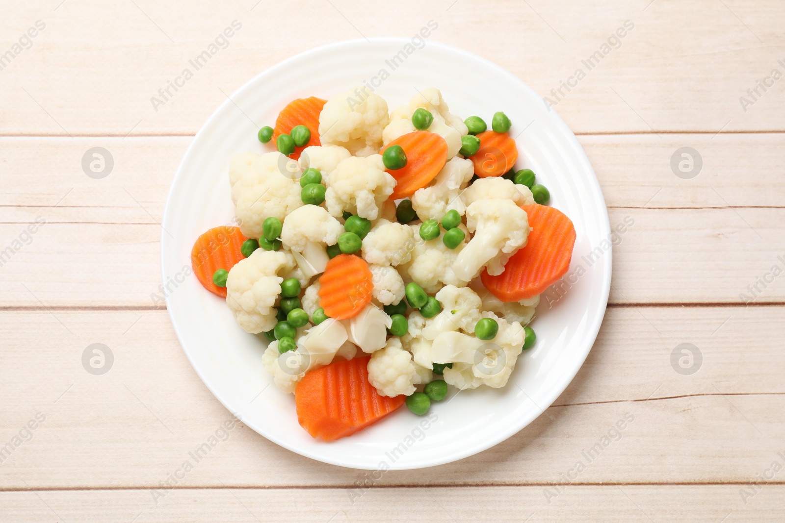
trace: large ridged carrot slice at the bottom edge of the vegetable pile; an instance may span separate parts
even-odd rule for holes
[[[297,419],[314,438],[334,441],[376,423],[398,409],[406,396],[387,398],[368,381],[368,360],[335,361],[312,370],[294,391]]]

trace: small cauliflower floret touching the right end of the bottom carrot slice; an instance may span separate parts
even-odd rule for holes
[[[368,381],[382,396],[408,396],[414,392],[414,380],[420,381],[422,376],[418,376],[411,354],[403,350],[399,338],[390,338],[385,348],[374,352],[368,361]]]

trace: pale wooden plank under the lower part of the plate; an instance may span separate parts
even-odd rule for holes
[[[555,402],[562,406],[477,456],[389,472],[383,485],[557,482],[601,438],[617,438],[624,416],[633,420],[586,463],[580,482],[750,481],[785,452],[782,309],[642,311],[645,318],[632,308],[608,311],[586,364]],[[53,314],[0,314],[8,333],[0,444],[37,412],[46,416],[3,461],[0,488],[155,487],[230,416],[193,372],[165,311]],[[104,375],[82,368],[91,343],[114,355]],[[680,343],[702,351],[692,376],[671,367]],[[242,426],[179,485],[350,486],[363,474],[298,456]]]

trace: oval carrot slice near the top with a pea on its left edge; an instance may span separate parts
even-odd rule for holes
[[[439,171],[447,163],[447,142],[436,133],[414,131],[399,136],[385,145],[379,154],[392,145],[400,145],[406,153],[406,166],[403,169],[387,172],[398,181],[395,190],[390,194],[391,200],[408,198],[414,191],[422,189],[436,178]]]

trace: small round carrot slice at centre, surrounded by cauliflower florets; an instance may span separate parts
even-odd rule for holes
[[[359,314],[371,303],[373,279],[368,264],[360,256],[335,256],[327,262],[324,274],[319,278],[319,305],[324,314],[336,320]]]

